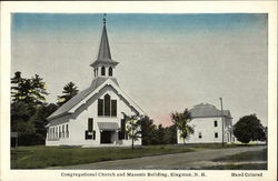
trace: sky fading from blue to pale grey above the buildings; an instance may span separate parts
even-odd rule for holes
[[[46,81],[48,102],[66,83],[79,90],[93,79],[99,13],[13,13],[11,77],[36,73]],[[230,110],[234,123],[256,113],[267,125],[267,14],[108,13],[107,31],[116,78],[155,123],[170,113],[210,103]],[[271,120],[270,120],[271,121]]]

